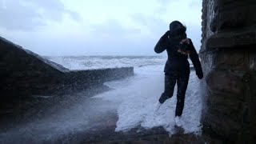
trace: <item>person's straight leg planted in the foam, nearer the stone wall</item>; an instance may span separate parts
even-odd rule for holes
[[[190,73],[186,72],[186,73],[180,74],[177,80],[178,90],[177,90],[177,104],[176,104],[175,116],[178,116],[178,117],[182,115],[182,111],[184,108],[185,94],[186,94],[186,88],[189,82],[189,78],[190,78]]]

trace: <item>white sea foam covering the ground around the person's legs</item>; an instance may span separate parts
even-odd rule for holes
[[[176,106],[176,89],[174,96],[154,112],[154,103],[158,102],[164,88],[162,66],[144,66],[135,69],[134,78],[126,81],[108,82],[106,85],[115,90],[99,94],[94,98],[103,98],[118,102],[118,122],[116,131],[127,131],[142,126],[146,129],[162,126],[174,134],[174,110]],[[182,128],[185,133],[200,133],[202,99],[199,94],[199,80],[194,71],[190,73],[190,82],[186,91],[185,107],[182,114]]]

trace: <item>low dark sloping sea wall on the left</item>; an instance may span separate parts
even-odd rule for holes
[[[0,37],[0,102],[20,102],[33,95],[62,94],[103,86],[126,78],[133,67],[69,70]],[[1,106],[0,106],[1,107]]]

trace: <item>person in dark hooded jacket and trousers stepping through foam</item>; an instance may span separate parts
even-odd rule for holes
[[[156,53],[167,51],[168,59],[164,68],[165,72],[165,90],[158,100],[156,110],[166,99],[174,94],[174,86],[177,82],[177,104],[175,110],[175,122],[181,126],[180,118],[184,107],[186,88],[190,78],[190,57],[196,74],[199,79],[203,78],[202,66],[198,58],[197,51],[190,38],[186,38],[186,26],[181,22],[174,21],[170,23],[170,30],[166,31],[154,47]]]

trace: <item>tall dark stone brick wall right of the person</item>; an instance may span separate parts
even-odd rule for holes
[[[228,142],[256,134],[256,1],[203,0],[204,131]]]

